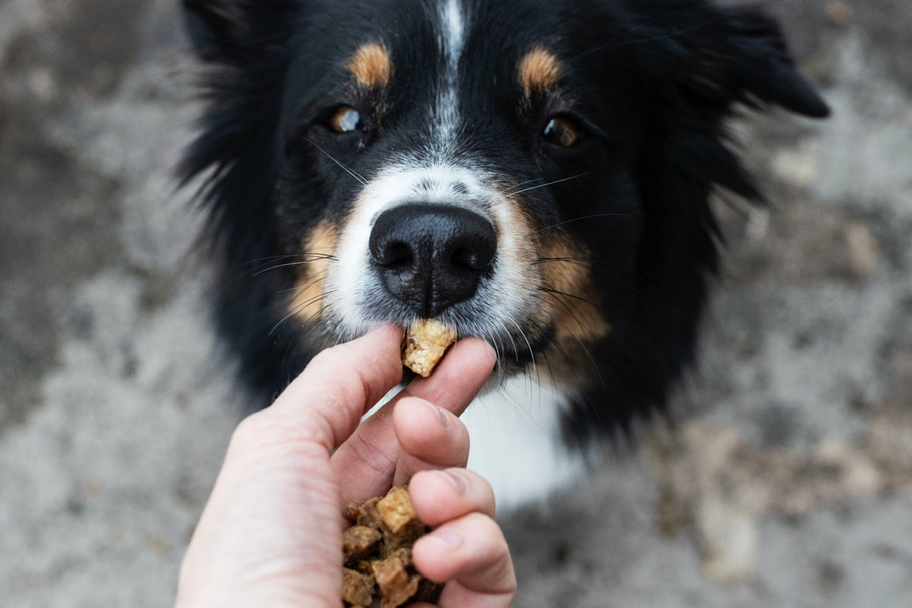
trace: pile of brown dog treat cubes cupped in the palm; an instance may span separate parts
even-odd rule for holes
[[[342,538],[342,600],[353,608],[376,600],[380,608],[406,603],[436,603],[442,585],[423,578],[411,561],[411,546],[428,532],[409,499],[406,486],[383,498],[349,503],[352,526]]]

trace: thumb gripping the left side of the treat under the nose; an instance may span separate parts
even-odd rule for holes
[[[264,412],[330,453],[402,380],[402,330],[386,325],[356,341],[316,355],[275,404]]]

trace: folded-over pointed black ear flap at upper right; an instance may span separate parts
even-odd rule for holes
[[[795,68],[779,26],[759,9],[712,7],[675,29],[672,37],[685,47],[676,74],[684,89],[721,103],[772,103],[814,118],[829,115]]]

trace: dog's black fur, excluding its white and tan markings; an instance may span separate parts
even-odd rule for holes
[[[435,4],[183,2],[208,70],[200,135],[181,174],[205,176],[208,234],[222,261],[218,323],[262,404],[327,340],[346,336],[287,320],[283,294],[295,287],[295,267],[261,270],[301,254],[311,226],[341,219],[357,198],[358,182],[328,154],[369,179],[390,155],[429,137],[420,108],[433,103],[428,83],[442,69],[429,25]],[[561,225],[562,236],[591,252],[592,283],[613,328],[586,345],[591,361],[577,366],[585,379],[565,415],[565,437],[584,441],[661,408],[694,359],[708,278],[719,266],[710,194],[761,201],[726,144],[726,119],[737,106],[775,104],[814,117],[827,108],[797,73],[778,26],[757,8],[705,0],[464,4],[472,28],[460,103],[473,131],[461,131],[457,155],[481,157],[514,183],[585,173],[526,199],[536,226]],[[395,58],[386,122],[328,134],[326,109],[348,94],[345,58],[373,38],[387,41]],[[536,44],[554,48],[565,65],[562,95],[589,134],[575,149],[535,139],[549,112],[565,108],[518,99],[515,65]],[[389,320],[405,320],[398,315]],[[535,351],[552,339],[549,328],[535,336]],[[524,352],[508,351],[502,360],[527,362]]]

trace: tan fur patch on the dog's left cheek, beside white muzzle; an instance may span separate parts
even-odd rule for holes
[[[336,254],[338,228],[328,222],[316,225],[304,241],[304,261],[295,284],[289,312],[303,323],[319,320],[326,295],[326,278],[331,261],[327,258]]]

